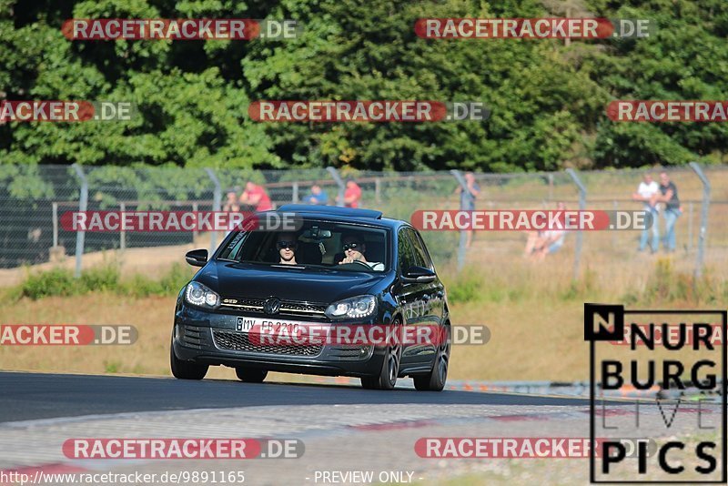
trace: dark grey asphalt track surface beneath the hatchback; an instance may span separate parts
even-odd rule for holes
[[[520,394],[0,372],[0,422],[122,412],[302,405],[589,406],[588,400]]]

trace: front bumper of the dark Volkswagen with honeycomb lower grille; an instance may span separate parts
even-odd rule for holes
[[[269,345],[236,329],[242,313],[207,312],[181,305],[175,314],[172,346],[178,359],[209,365],[329,376],[371,376],[381,370],[384,349],[339,344]],[[292,319],[322,325],[320,321]],[[339,326],[346,324],[323,324]]]

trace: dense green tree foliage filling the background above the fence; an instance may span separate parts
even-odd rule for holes
[[[0,0],[0,98],[137,107],[129,121],[0,125],[0,163],[506,172],[723,160],[726,124],[615,123],[604,106],[726,99],[724,0],[569,2],[580,15],[649,19],[654,28],[648,38],[568,46],[426,40],[412,27],[420,17],[563,15],[558,5]],[[196,16],[292,18],[303,31],[292,40],[71,42],[60,30],[74,17]],[[247,115],[258,99],[483,101],[491,115],[460,123],[260,124]]]

